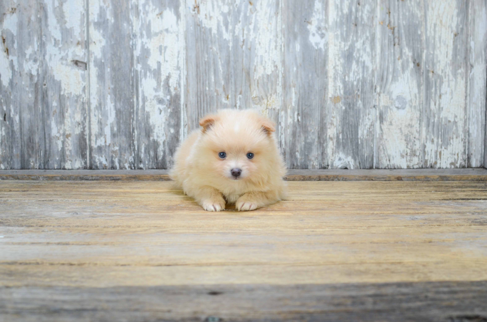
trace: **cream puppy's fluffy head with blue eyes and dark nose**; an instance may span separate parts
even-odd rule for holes
[[[201,149],[195,157],[212,177],[259,182],[278,162],[274,124],[256,112],[223,110],[201,119],[200,126]]]

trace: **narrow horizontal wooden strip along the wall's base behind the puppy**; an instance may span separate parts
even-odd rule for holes
[[[286,181],[479,181],[487,169],[288,170]],[[0,180],[170,181],[168,170],[1,170]]]

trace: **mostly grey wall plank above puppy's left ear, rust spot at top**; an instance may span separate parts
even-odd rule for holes
[[[229,2],[186,2],[187,132],[196,129],[204,115],[235,106],[229,87],[233,68]]]

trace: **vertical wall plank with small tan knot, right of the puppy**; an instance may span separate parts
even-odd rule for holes
[[[329,2],[327,155],[330,168],[374,166],[376,2]]]

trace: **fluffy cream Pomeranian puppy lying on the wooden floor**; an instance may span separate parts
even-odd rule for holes
[[[222,110],[200,120],[179,146],[171,178],[203,209],[226,203],[254,210],[284,197],[286,174],[274,123],[251,110]]]

